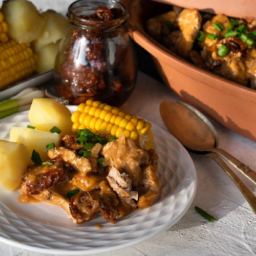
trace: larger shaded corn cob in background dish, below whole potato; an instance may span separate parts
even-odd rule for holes
[[[30,43],[0,43],[0,89],[29,77],[35,71],[35,62]]]

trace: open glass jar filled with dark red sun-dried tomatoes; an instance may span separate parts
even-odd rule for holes
[[[79,0],[69,6],[71,29],[55,60],[55,83],[70,104],[88,99],[119,106],[131,95],[137,61],[125,26],[126,8],[114,0]]]

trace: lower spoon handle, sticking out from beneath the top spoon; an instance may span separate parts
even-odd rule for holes
[[[256,214],[256,197],[253,195],[250,189],[238,178],[236,174],[232,172],[232,170],[225,164],[225,162],[216,153],[209,153],[204,156],[214,159],[221,166],[221,168],[231,178],[234,184],[236,184],[237,187],[240,189],[246,201],[249,203],[252,210]]]

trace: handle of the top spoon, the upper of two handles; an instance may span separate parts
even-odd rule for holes
[[[214,150],[211,150],[218,155],[222,156],[225,160],[227,160],[231,165],[233,165],[235,168],[239,170],[240,173],[242,173],[245,177],[247,177],[250,181],[252,181],[256,185],[256,173],[253,172],[253,170],[240,162],[237,158],[234,158],[224,150],[221,150],[220,148],[214,148]]]

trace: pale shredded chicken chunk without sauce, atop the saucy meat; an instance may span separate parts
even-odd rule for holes
[[[120,174],[117,168],[112,166],[106,179],[121,200],[134,208],[137,206],[133,199],[138,200],[138,192],[132,191],[132,180],[128,175],[125,173]]]

